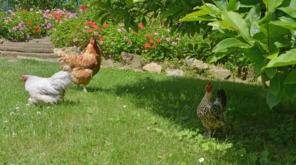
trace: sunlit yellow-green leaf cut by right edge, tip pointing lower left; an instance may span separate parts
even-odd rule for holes
[[[296,64],[296,53],[285,53],[270,60],[266,66],[262,69],[275,67],[275,66],[286,66]]]

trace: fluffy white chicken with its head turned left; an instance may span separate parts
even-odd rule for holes
[[[29,104],[50,104],[64,101],[65,90],[73,82],[67,71],[59,71],[49,78],[22,75],[25,89],[30,94]]]

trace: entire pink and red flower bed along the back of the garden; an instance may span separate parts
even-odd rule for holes
[[[123,51],[139,54],[147,61],[182,59],[188,44],[204,43],[202,37],[189,38],[178,33],[170,33],[170,28],[160,23],[139,24],[138,33],[126,31],[124,24],[104,24],[99,26],[86,6],[79,13],[57,10],[0,12],[0,35],[12,41],[30,39],[36,35],[51,34],[57,47],[80,46],[85,48],[93,35],[103,54],[118,60]]]

